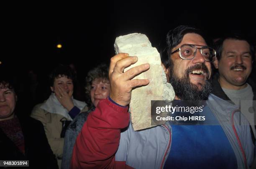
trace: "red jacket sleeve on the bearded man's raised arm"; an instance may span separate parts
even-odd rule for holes
[[[129,119],[127,107],[108,99],[100,101],[77,136],[71,168],[117,168],[120,163],[115,162],[115,152],[120,142],[120,129],[128,126]]]

